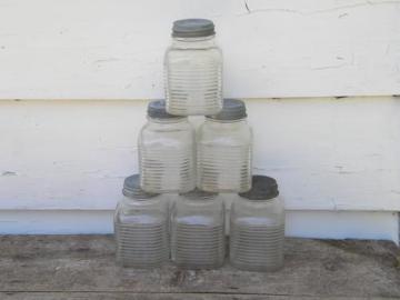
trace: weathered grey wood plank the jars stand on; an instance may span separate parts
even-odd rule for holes
[[[123,269],[110,236],[2,236],[0,253],[0,292],[400,297],[400,251],[383,241],[288,239],[274,273]]]

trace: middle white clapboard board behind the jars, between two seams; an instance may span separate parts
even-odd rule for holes
[[[1,209],[113,209],[147,101],[0,101]],[[400,210],[400,98],[247,100],[290,210]],[[197,118],[196,122],[201,121]]]

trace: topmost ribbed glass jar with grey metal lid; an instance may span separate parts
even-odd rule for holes
[[[204,19],[173,23],[164,57],[167,110],[172,114],[216,114],[222,108],[222,53],[214,24]]]

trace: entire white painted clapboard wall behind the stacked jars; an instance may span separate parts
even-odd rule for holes
[[[110,231],[141,99],[163,97],[171,22],[190,17],[216,22],[288,234],[397,240],[399,0],[0,0],[0,232]]]

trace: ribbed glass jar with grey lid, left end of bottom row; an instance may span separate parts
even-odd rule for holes
[[[147,193],[139,174],[123,183],[114,213],[117,261],[123,267],[154,268],[169,259],[169,208],[161,194]]]

